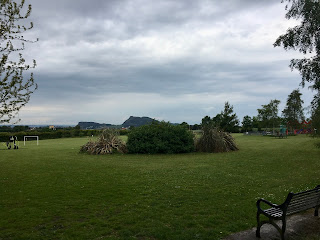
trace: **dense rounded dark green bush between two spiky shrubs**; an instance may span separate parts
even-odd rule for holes
[[[128,134],[129,153],[187,153],[194,151],[192,132],[166,122],[133,128]]]

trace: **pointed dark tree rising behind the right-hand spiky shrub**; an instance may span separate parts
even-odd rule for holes
[[[230,105],[229,102],[225,102],[224,110],[221,112],[220,115],[220,128],[223,131],[237,131],[239,120],[237,114],[233,113],[233,106]]]

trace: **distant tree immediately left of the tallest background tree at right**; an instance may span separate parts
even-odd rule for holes
[[[280,101],[277,99],[271,100],[269,104],[262,105],[261,109],[258,109],[258,118],[262,122],[263,127],[270,128],[272,126],[273,128],[273,134],[274,134],[274,128],[279,123],[279,104]]]

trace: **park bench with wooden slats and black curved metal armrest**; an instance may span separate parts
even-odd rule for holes
[[[263,210],[261,203],[269,205],[271,208]],[[261,226],[265,223],[272,224],[280,233],[281,239],[284,240],[284,233],[286,231],[286,217],[295,213],[299,213],[311,208],[315,208],[314,216],[318,216],[320,207],[320,185],[314,189],[299,192],[289,193],[287,199],[281,205],[273,204],[265,199],[257,201],[257,231],[256,236],[260,238]],[[260,214],[268,218],[267,221],[260,221]],[[281,220],[282,227],[280,228],[274,220]]]

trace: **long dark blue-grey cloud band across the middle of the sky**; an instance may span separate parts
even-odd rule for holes
[[[105,66],[106,67],[106,66]],[[197,63],[171,62],[133,69],[123,68],[109,76],[89,74],[36,74],[38,83],[48,89],[48,95],[70,96],[72,93],[94,96],[110,93],[158,93],[177,95],[190,93],[223,93],[241,87],[242,82],[272,83],[274,72],[283,68],[281,63],[235,64],[235,63]],[[263,74],[261,74],[263,72]],[[246,89],[243,89],[246,91]]]

